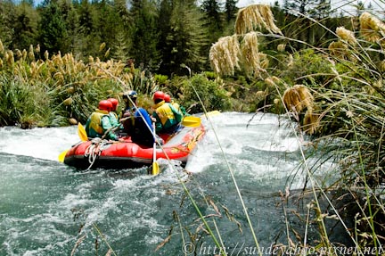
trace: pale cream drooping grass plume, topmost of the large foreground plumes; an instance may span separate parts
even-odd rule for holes
[[[235,33],[246,34],[254,29],[266,29],[270,33],[282,35],[274,22],[274,15],[267,4],[252,4],[238,11],[235,20]]]

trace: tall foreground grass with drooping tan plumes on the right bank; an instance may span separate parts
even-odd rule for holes
[[[261,22],[263,26],[266,26],[266,18],[261,16],[261,10],[265,9],[252,5],[239,12],[248,13],[245,17],[258,15],[260,17],[237,22],[242,24],[242,28],[245,29],[235,29],[235,31],[239,31],[238,35],[220,38],[217,44],[211,47],[212,68],[219,75],[226,76],[233,75],[235,69],[242,69],[242,62],[249,63],[248,68],[243,69],[245,74],[256,80],[264,80],[266,84],[274,87],[277,98],[285,108],[285,115],[299,123],[299,144],[304,141],[302,134],[312,135],[311,145],[314,145],[315,150],[318,146],[318,149],[321,149],[322,145],[322,150],[328,155],[332,155],[338,164],[338,169],[335,171],[339,172],[340,179],[332,186],[319,184],[314,178],[315,166],[310,166],[307,161],[308,151],[306,152],[305,148],[301,151],[303,158],[301,169],[307,176],[307,185],[313,194],[314,201],[309,205],[309,209],[313,209],[314,217],[319,223],[320,242],[313,244],[314,248],[324,248],[324,246],[332,248],[333,241],[328,237],[325,221],[333,214],[345,227],[347,235],[356,245],[358,254],[364,253],[362,251],[364,247],[371,247],[373,252],[378,255],[385,240],[381,235],[384,234],[381,219],[385,217],[382,202],[385,177],[383,170],[385,91],[382,78],[382,47],[385,24],[372,14],[364,12],[360,17],[360,31],[349,31],[341,27],[336,31],[331,31],[336,36],[336,40],[329,45],[328,49],[315,48],[307,42],[300,42],[311,51],[309,52],[307,49],[296,54],[279,55],[281,65],[286,66],[287,71],[277,71],[270,70],[268,62],[267,65],[261,65],[258,56],[263,53],[258,51],[258,39],[255,39],[255,36],[247,36],[254,33],[250,30],[262,28],[261,24],[252,24],[253,22]],[[242,15],[239,15],[238,19],[242,19]],[[309,17],[304,18],[318,26],[323,26]],[[244,22],[251,24],[245,25]],[[258,32],[254,35],[274,37],[286,42],[291,41],[291,38],[284,37],[279,30],[270,29],[269,31],[271,34]],[[356,34],[359,35],[358,38],[354,36]],[[247,44],[241,44],[241,42],[250,40],[250,45],[254,45],[255,54],[241,50],[240,45],[249,44],[249,42]],[[296,42],[299,41],[296,40]],[[282,51],[283,47],[280,48],[279,50]],[[245,54],[249,54],[246,56],[247,58],[245,58]],[[301,65],[295,68],[296,64],[305,60],[307,54],[310,57],[308,66]],[[318,61],[318,64],[314,66],[315,70],[309,69],[312,67],[311,62],[315,60]],[[289,77],[288,73],[291,70],[297,72],[299,77]],[[302,84],[299,84],[299,81],[302,81]],[[271,92],[267,91],[266,94],[271,94]],[[292,129],[298,131],[295,127]],[[323,160],[320,160],[321,164],[322,162]],[[306,192],[309,188],[304,187],[303,191]],[[350,200],[342,209],[354,211],[354,214],[351,215],[355,216],[353,230],[345,224],[346,221],[352,219],[341,217],[342,211],[339,211],[340,208],[337,207],[340,201],[332,200],[328,195],[328,192],[337,190],[340,190],[342,194],[348,192]],[[287,194],[283,196],[289,198]],[[326,213],[326,209],[319,202],[321,198],[326,200],[332,213]],[[306,227],[310,221],[308,216],[304,222]],[[290,223],[287,224],[290,226]],[[289,228],[287,233],[290,233]],[[292,241],[289,234],[287,235],[290,247]],[[301,243],[305,248],[309,241],[307,232],[304,235]]]

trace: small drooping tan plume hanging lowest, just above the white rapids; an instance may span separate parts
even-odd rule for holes
[[[295,85],[284,91],[283,103],[289,111],[300,112],[313,107],[314,97],[304,85]]]

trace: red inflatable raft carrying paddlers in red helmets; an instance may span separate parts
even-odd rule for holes
[[[161,148],[157,145],[156,158],[185,163],[204,134],[205,128],[200,125],[184,127],[171,137],[162,136],[166,143]],[[74,145],[66,153],[64,163],[78,169],[129,169],[151,165],[152,157],[152,147],[137,145],[127,136],[124,142],[94,140]]]

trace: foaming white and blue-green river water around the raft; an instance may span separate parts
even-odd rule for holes
[[[57,157],[78,142],[75,127],[0,128],[0,255],[214,255],[216,244],[182,183],[218,243],[252,255],[256,243],[229,169],[259,245],[284,241],[278,192],[303,184],[297,170],[305,147],[282,117],[252,117],[212,117],[185,169],[160,161],[157,177],[145,168],[65,166]],[[329,169],[325,164],[321,175]]]

